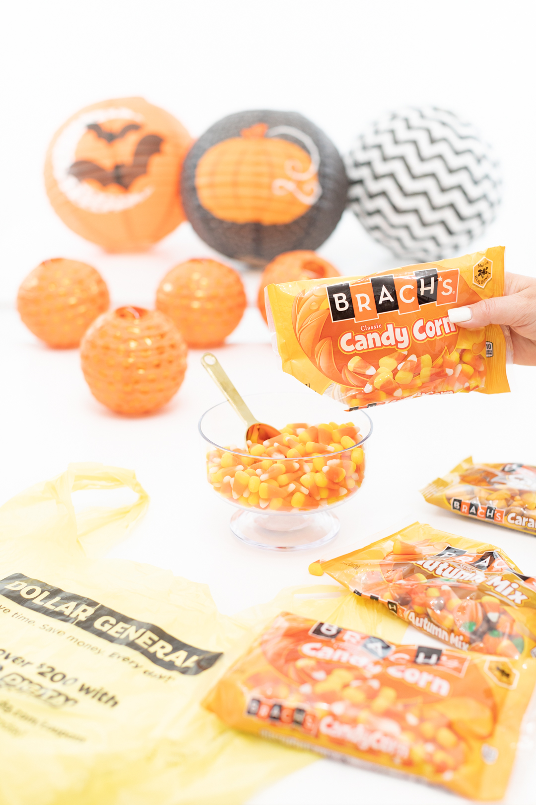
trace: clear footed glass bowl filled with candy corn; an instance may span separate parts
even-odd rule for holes
[[[199,420],[207,481],[236,508],[233,534],[276,551],[328,543],[340,527],[333,509],[355,497],[365,477],[370,417],[307,392],[248,394],[244,400],[281,436],[246,444],[246,428],[227,401]]]

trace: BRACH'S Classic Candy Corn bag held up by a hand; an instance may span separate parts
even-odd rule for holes
[[[350,410],[423,394],[509,391],[501,327],[458,328],[448,319],[450,308],[503,294],[504,251],[268,286],[284,371]]]

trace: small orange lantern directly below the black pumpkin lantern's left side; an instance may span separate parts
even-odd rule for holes
[[[174,320],[189,347],[215,347],[239,324],[246,294],[237,272],[215,260],[188,260],[158,286],[158,310]]]

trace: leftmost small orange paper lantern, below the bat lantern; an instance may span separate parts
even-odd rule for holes
[[[51,347],[77,347],[89,325],[108,310],[108,288],[85,262],[55,258],[37,266],[18,289],[27,328]]]

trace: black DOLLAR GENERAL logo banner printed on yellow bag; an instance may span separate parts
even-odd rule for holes
[[[39,579],[31,579],[23,573],[12,573],[0,580],[0,596],[9,598],[19,606],[78,626],[108,642],[127,646],[168,671],[200,674],[221,657],[221,652],[190,646],[153,623],[135,621],[98,601],[53,587]]]

